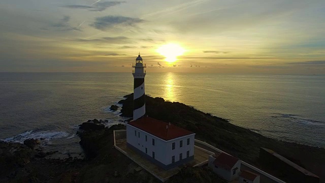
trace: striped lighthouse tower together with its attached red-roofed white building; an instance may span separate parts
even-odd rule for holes
[[[156,165],[169,169],[194,159],[194,133],[151,117],[145,117],[146,65],[142,57],[133,65],[133,119],[126,124],[126,143]]]

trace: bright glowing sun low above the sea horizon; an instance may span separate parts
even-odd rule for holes
[[[168,43],[160,46],[157,52],[166,57],[166,62],[173,63],[177,60],[177,56],[182,55],[185,49],[175,43]]]

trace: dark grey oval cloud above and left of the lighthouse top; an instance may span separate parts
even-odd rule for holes
[[[124,17],[124,16],[104,16],[104,17],[97,17],[95,22],[90,24],[96,29],[101,31],[106,31],[109,28],[112,28],[116,25],[122,26],[133,26],[137,23],[143,22],[144,20],[139,18],[131,18],[131,17]]]

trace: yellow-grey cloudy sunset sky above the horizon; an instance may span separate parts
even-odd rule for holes
[[[325,74],[323,0],[1,0],[0,72]],[[157,49],[184,49],[166,62]]]

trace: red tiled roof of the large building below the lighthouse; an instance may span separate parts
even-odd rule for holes
[[[128,124],[164,140],[171,140],[185,135],[194,134],[193,132],[175,125],[169,125],[164,121],[152,117],[142,117],[134,121],[129,121]],[[166,129],[166,126],[168,126],[168,129]]]

